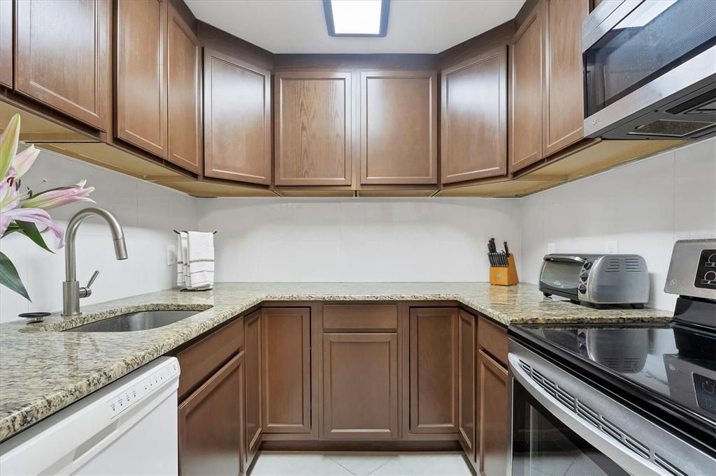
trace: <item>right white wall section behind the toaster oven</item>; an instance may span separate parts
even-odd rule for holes
[[[649,307],[673,309],[664,293],[677,239],[716,236],[716,138],[521,200],[520,279],[536,283],[548,243],[556,252],[605,252],[616,239],[619,253],[647,260]]]

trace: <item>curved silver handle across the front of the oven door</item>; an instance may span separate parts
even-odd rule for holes
[[[564,425],[569,427],[577,435],[584,438],[590,445],[594,446],[603,455],[609,457],[617,465],[621,466],[632,475],[668,475],[667,472],[661,470],[649,460],[637,455],[636,452],[629,450],[619,440],[606,435],[596,427],[589,425],[586,420],[577,416],[572,410],[568,409],[559,400],[550,395],[539,385],[533,382],[532,378],[520,366],[519,357],[516,354],[509,354],[508,360],[510,364],[510,373],[535,400],[537,400],[548,412],[558,418]]]

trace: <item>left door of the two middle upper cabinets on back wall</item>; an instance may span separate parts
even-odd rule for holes
[[[351,184],[351,74],[278,72],[276,185]]]

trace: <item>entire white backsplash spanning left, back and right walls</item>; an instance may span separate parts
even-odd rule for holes
[[[652,274],[649,305],[664,294],[675,239],[716,236],[716,139],[627,164],[524,199],[194,199],[155,184],[42,152],[24,177],[46,187],[86,178],[92,197],[120,220],[129,259],[117,262],[105,224],[89,220],[77,239],[84,282],[100,277],[83,303],[173,287],[166,249],[172,229],[218,230],[218,281],[486,281],[485,246],[505,239],[520,279],[536,283],[548,243],[556,252],[642,254]],[[87,204],[52,211],[66,225]],[[50,254],[11,235],[13,260],[33,301],[0,287],[0,321],[62,307],[64,252]]]

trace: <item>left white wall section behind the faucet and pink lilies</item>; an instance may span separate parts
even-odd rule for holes
[[[100,270],[92,296],[82,304],[102,302],[172,287],[175,267],[167,266],[166,247],[175,247],[176,229],[194,229],[197,201],[185,194],[142,182],[50,152],[41,152],[23,184],[32,186],[42,179],[48,183],[38,189],[60,187],[87,179],[96,187],[91,197],[97,205],[79,202],[50,210],[55,221],[66,227],[74,212],[96,206],[110,210],[120,221],[127,239],[128,259],[117,261],[112,236],[101,219],[88,219],[77,233],[77,278],[84,285],[95,269]],[[47,242],[54,236],[47,234]],[[64,249],[51,254],[27,237],[11,234],[0,240],[6,254],[29,292],[32,302],[0,286],[0,322],[17,319],[20,312],[62,309]]]

